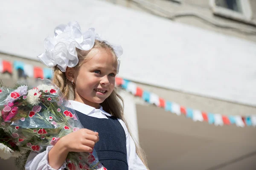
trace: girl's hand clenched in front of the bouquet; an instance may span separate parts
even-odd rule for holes
[[[92,152],[94,145],[98,141],[98,132],[80,129],[62,137],[58,142],[60,142],[68,152]]]

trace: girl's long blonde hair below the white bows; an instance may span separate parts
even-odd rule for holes
[[[76,49],[79,63],[78,63],[78,65],[76,65],[74,67],[75,71],[79,71],[80,66],[84,62],[86,62],[86,59],[88,58],[87,55],[94,48],[109,49],[113,53],[113,56],[115,56],[115,52],[113,51],[113,48],[110,45],[108,45],[108,43],[106,43],[105,41],[95,40],[93,48],[89,51],[83,51],[78,48]],[[64,72],[60,71],[60,69],[57,66],[54,67],[53,74],[54,74],[53,82],[55,83],[55,85],[57,85],[60,88],[61,92],[64,95],[64,98],[74,99],[75,98],[74,88],[73,88],[72,83],[69,80],[67,80],[66,74]],[[130,133],[130,128],[129,128],[127,121],[125,120],[125,117],[124,117],[124,102],[123,102],[122,97],[119,94],[117,94],[117,88],[114,88],[111,95],[107,99],[105,99],[104,102],[101,103],[101,106],[104,111],[110,113],[112,116],[116,117],[117,119],[121,119],[123,122],[125,122],[125,125],[127,126],[128,131]],[[132,134],[131,134],[131,136],[132,136]],[[145,157],[145,153],[144,153],[143,149],[140,147],[140,145],[135,140],[134,140],[134,142],[136,145],[136,153],[138,154],[138,156],[140,157],[140,159],[143,161],[143,163],[145,164],[145,166],[148,169],[148,165],[147,165],[147,161],[146,161],[146,157]]]

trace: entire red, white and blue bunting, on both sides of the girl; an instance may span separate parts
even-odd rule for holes
[[[0,73],[8,72],[12,74],[13,68],[15,70],[23,71],[20,76],[25,77],[35,77],[35,78],[52,78],[52,69],[41,68],[33,65],[25,64],[20,61],[9,62],[0,58]],[[151,93],[149,91],[144,91],[142,88],[138,87],[136,83],[131,82],[120,77],[116,77],[116,86],[121,86],[126,91],[130,92],[134,96],[141,97],[145,102],[148,102],[157,107],[164,108],[165,111],[169,111],[180,116],[185,115],[187,118],[193,121],[208,122],[209,124],[214,124],[215,126],[232,125],[235,124],[238,127],[253,126],[256,127],[256,115],[251,116],[233,116],[233,115],[221,115],[214,113],[207,113],[204,111],[194,110],[192,108],[186,108],[177,104],[176,102],[166,101],[165,99],[159,97],[157,94]]]

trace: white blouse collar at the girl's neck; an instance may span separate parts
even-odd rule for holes
[[[105,114],[106,116],[111,116],[111,114],[105,112],[102,108],[102,106],[100,106],[99,109],[96,109],[96,108],[93,108],[89,105],[86,105],[84,103],[81,103],[81,102],[77,102],[77,101],[74,101],[74,100],[69,100],[70,102],[70,105],[71,107],[76,110],[76,111],[79,111],[83,114],[86,114],[86,115],[90,115],[92,113],[99,113],[101,112],[102,114]],[[75,109],[76,108],[76,109]]]

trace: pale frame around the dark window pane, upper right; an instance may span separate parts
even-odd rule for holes
[[[213,14],[220,15],[222,17],[232,18],[239,21],[252,21],[253,14],[250,6],[250,0],[241,0],[242,13],[221,6],[216,6],[215,0],[209,0],[209,4],[212,8]]]

